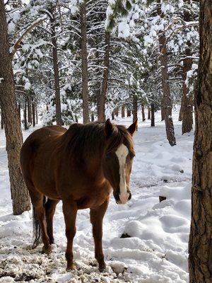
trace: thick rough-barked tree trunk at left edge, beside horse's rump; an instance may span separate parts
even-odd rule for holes
[[[9,53],[4,1],[0,1],[0,104],[4,116],[8,171],[13,199],[13,214],[22,214],[30,209],[30,198],[20,169],[20,148],[23,143],[20,119],[16,104],[13,80],[12,57]]]

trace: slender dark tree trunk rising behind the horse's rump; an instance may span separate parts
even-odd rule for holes
[[[52,24],[52,57],[53,57],[53,67],[54,67],[54,91],[55,91],[55,108],[56,108],[56,122],[57,125],[62,125],[61,120],[61,102],[60,102],[60,86],[59,86],[59,68],[58,68],[58,55],[57,55],[57,37],[55,32],[55,19],[54,13],[50,17],[50,22]]]

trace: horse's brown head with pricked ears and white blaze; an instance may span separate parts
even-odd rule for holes
[[[129,179],[131,166],[135,156],[132,136],[136,131],[137,120],[126,129],[124,126],[105,122],[107,146],[102,159],[105,178],[113,187],[113,195],[117,204],[125,204],[131,199]]]

